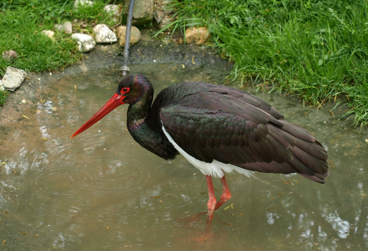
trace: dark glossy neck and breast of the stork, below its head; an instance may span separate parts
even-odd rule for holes
[[[129,105],[127,112],[128,131],[141,146],[164,159],[173,159],[178,154],[162,131],[158,117],[150,115],[152,96],[143,96]]]

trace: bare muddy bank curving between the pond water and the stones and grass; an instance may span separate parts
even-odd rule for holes
[[[173,63],[192,67],[208,67],[221,72],[229,72],[231,65],[220,59],[215,50],[196,45],[165,43],[166,41],[142,39],[130,48],[130,64],[158,64]],[[29,73],[28,78],[15,92],[11,93],[6,103],[0,106],[0,130],[6,134],[14,123],[21,123],[32,114],[24,115],[24,111],[38,102],[48,98],[45,91],[52,88],[58,79],[68,75],[83,73],[91,70],[106,68],[106,71],[123,66],[123,49],[117,44],[98,45],[95,50],[85,53],[84,60],[63,71],[45,71],[43,73]],[[143,73],[144,74],[144,73]],[[121,76],[116,76],[118,83]]]

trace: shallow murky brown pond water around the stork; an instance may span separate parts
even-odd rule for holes
[[[221,84],[224,73],[133,65],[156,93],[183,81]],[[2,135],[0,238],[4,250],[366,250],[366,137],[326,110],[256,94],[309,130],[329,152],[330,177],[227,177],[232,198],[206,230],[206,179],[182,156],[139,146],[120,106],[70,139],[116,91],[118,69],[60,79]],[[220,195],[221,183],[214,180]]]

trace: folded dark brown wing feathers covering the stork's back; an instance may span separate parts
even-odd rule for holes
[[[159,93],[155,106],[174,141],[199,160],[265,173],[299,173],[320,183],[329,175],[322,145],[250,93],[187,82]]]

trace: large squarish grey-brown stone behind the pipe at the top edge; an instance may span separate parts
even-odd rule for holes
[[[124,14],[129,12],[130,0],[125,0]],[[132,25],[141,26],[152,21],[153,0],[134,0]]]

